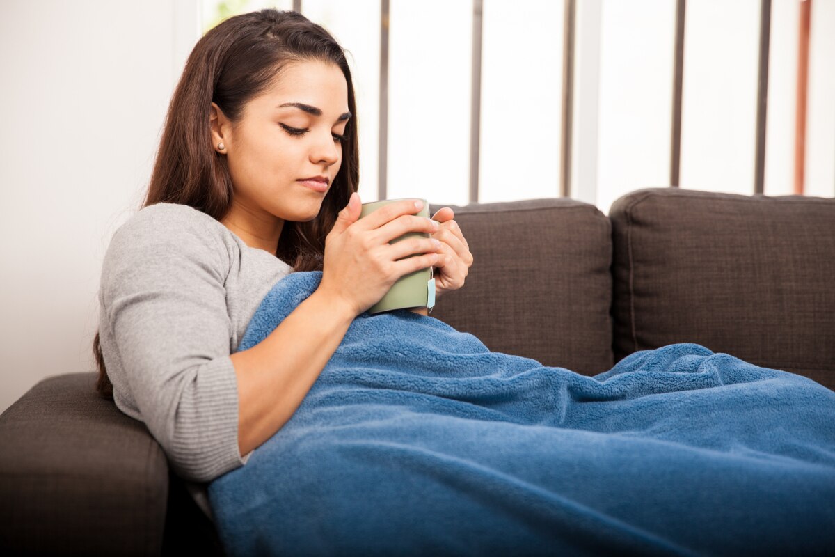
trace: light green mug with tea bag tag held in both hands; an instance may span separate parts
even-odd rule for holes
[[[382,207],[382,205],[388,205],[389,203],[395,203],[397,201],[402,200],[381,200],[363,203],[359,218],[362,219],[362,217],[371,214],[374,210]],[[428,201],[423,200],[423,207],[414,214],[429,218]],[[406,240],[412,236],[429,238],[432,235],[428,232],[407,232],[402,236],[398,236],[389,243],[394,244],[395,242]],[[413,257],[416,255],[420,254],[413,254],[412,256],[407,257]],[[426,269],[419,269],[417,271],[407,273],[397,279],[392,287],[386,292],[385,296],[382,296],[380,301],[368,308],[368,313],[374,314],[382,311],[400,310],[412,307],[431,308],[434,305],[435,281],[433,279],[432,267],[427,267]]]

